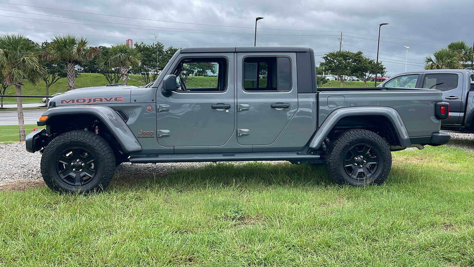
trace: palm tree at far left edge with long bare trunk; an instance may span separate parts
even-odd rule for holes
[[[14,85],[16,94],[21,95],[23,82],[36,83],[43,75],[39,63],[41,50],[36,43],[21,34],[0,36],[0,71],[3,83]],[[17,97],[18,128],[20,141],[25,141],[25,122],[21,97]]]

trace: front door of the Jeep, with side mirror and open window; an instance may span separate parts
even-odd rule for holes
[[[157,140],[163,146],[223,145],[234,132],[234,54],[176,59],[177,91],[156,94]]]

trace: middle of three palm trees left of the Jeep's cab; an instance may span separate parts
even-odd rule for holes
[[[88,48],[86,38],[76,38],[73,35],[55,36],[49,44],[49,55],[56,62],[64,62],[67,71],[68,90],[74,89],[74,66],[86,59],[91,60],[100,53],[97,48]]]

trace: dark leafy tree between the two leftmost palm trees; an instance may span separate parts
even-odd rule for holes
[[[41,43],[41,57],[40,64],[44,68],[43,76],[41,79],[46,84],[46,95],[49,95],[49,87],[54,85],[61,78],[67,77],[66,66],[61,63],[54,64],[51,61],[51,55],[48,54],[48,42]],[[74,72],[77,75],[77,73]],[[46,98],[46,104],[49,102],[49,98]]]

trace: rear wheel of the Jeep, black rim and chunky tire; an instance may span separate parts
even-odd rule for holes
[[[340,134],[326,151],[329,177],[352,186],[383,183],[392,168],[388,144],[374,132],[352,129]]]

